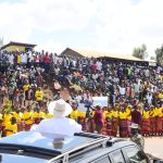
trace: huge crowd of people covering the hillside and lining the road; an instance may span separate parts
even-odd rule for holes
[[[33,124],[51,117],[47,105],[62,98],[64,88],[70,91],[66,102],[73,106],[70,117],[80,123],[83,130],[128,137],[133,122],[143,135],[163,135],[162,74],[162,66],[143,62],[1,51],[2,136],[29,130]],[[45,89],[52,93],[48,97]],[[92,108],[92,97],[108,97],[109,104]],[[80,103],[86,111],[78,110]]]

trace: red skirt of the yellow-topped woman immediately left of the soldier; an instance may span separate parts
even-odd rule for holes
[[[120,120],[120,137],[128,137],[128,124],[127,120]]]

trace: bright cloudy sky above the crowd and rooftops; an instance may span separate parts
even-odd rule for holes
[[[162,45],[162,0],[0,0],[4,43],[37,43],[60,53],[66,47],[131,54]]]

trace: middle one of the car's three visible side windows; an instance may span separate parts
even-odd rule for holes
[[[121,150],[116,150],[114,152],[110,153],[110,158],[113,163],[125,163],[124,156],[121,152]]]

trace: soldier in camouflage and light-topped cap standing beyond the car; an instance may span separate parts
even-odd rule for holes
[[[130,140],[136,142],[143,150],[145,139],[139,134],[139,126],[138,126],[138,124],[134,124],[133,123],[131,126],[130,126],[130,129],[131,129]]]

